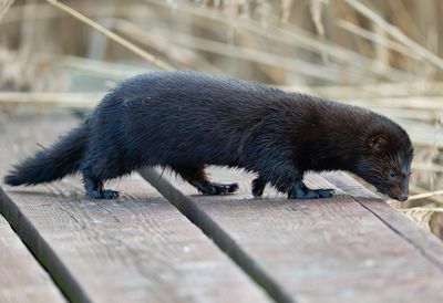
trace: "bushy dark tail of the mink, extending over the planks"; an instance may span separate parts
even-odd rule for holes
[[[86,125],[81,124],[51,147],[14,165],[14,169],[4,177],[4,182],[12,186],[37,185],[73,174],[80,169],[86,144]]]

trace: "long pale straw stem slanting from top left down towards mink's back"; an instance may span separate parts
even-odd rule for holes
[[[58,9],[61,9],[61,10],[68,12],[72,17],[74,17],[74,18],[79,19],[80,21],[82,21],[83,23],[94,28],[95,30],[97,30],[99,32],[103,33],[104,35],[106,35],[111,40],[117,42],[119,44],[123,45],[124,48],[128,49],[130,51],[132,51],[135,54],[140,55],[141,58],[145,59],[146,61],[155,64],[159,69],[166,70],[166,71],[173,71],[174,70],[169,64],[156,59],[154,55],[152,55],[148,52],[142,50],[141,48],[138,48],[137,45],[131,43],[130,41],[121,38],[120,35],[113,33],[112,31],[110,31],[106,28],[100,25],[99,23],[92,21],[91,19],[89,19],[84,14],[73,10],[72,8],[68,7],[66,4],[60,3],[60,2],[58,2],[55,0],[47,0],[47,2],[51,3],[52,6],[56,7]]]

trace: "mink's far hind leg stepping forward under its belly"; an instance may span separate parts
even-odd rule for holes
[[[172,169],[179,174],[190,185],[195,186],[198,191],[205,195],[224,195],[238,190],[237,184],[216,184],[207,179],[205,167],[202,166],[183,166],[174,165]]]

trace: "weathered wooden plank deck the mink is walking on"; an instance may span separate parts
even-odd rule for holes
[[[0,121],[0,171],[74,126],[69,115]],[[321,200],[197,195],[168,171],[84,196],[80,177],[0,184],[0,302],[443,302],[443,243],[344,173],[308,176]],[[23,244],[25,243],[25,245]]]

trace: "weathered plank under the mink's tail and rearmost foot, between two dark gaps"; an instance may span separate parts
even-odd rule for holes
[[[9,121],[0,138],[2,175],[35,142],[49,145],[74,124],[65,115]],[[79,177],[1,187],[6,217],[74,301],[269,301],[140,177],[114,182],[123,197],[111,201],[85,198]]]

